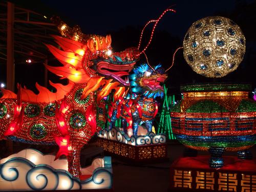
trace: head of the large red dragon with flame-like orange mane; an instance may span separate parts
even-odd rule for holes
[[[100,87],[102,91],[98,100],[113,89],[116,90],[116,97],[125,95],[125,86],[130,86],[129,72],[138,58],[135,49],[112,53],[110,35],[88,35],[82,42],[55,35],[53,37],[62,50],[52,45],[46,46],[63,66],[46,67],[74,83],[86,83],[82,98]]]

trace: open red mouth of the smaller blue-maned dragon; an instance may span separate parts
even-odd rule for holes
[[[160,83],[164,82],[166,78],[167,75],[157,75],[150,78],[143,78],[142,84],[143,86],[150,88],[152,91],[163,90]]]

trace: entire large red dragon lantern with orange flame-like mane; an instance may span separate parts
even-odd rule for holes
[[[135,65],[133,50],[108,55],[111,37],[91,35],[86,43],[54,36],[62,50],[47,45],[61,67],[46,66],[68,78],[66,86],[50,84],[57,92],[39,86],[39,94],[18,85],[17,95],[2,90],[0,138],[33,144],[57,144],[56,155],[68,157],[69,172],[80,177],[80,150],[95,132],[103,128],[103,97],[114,90],[115,97],[127,92],[127,75]],[[129,58],[127,58],[127,55]]]

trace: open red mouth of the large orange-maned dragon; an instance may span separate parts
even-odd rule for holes
[[[135,62],[118,65],[106,61],[100,61],[97,64],[97,72],[102,76],[114,78],[124,86],[130,86],[128,75],[132,71],[134,65]]]

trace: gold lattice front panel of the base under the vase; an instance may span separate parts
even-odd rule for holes
[[[250,173],[224,173],[218,170],[193,170],[172,168],[170,189],[186,191],[237,191],[256,192],[256,175]],[[253,170],[252,170],[253,173]]]

